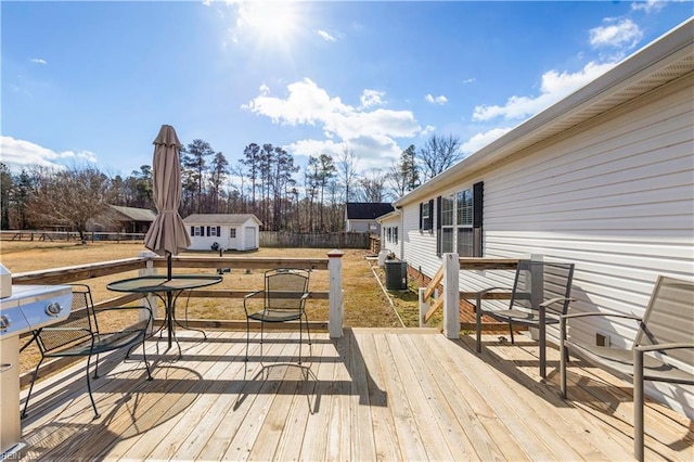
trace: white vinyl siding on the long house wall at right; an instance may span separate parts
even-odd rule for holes
[[[642,315],[658,274],[694,278],[693,81],[690,74],[493,168],[461,174],[460,187],[485,183],[484,255],[575,262],[574,312]],[[433,275],[440,265],[435,240],[410,218],[419,202],[403,205],[404,253],[412,267]],[[510,285],[510,272],[461,272],[461,290],[497,284]],[[591,319],[573,323],[570,335],[594,342],[600,331],[613,345],[630,347],[635,330],[626,321]],[[694,415],[691,389],[654,389]]]

